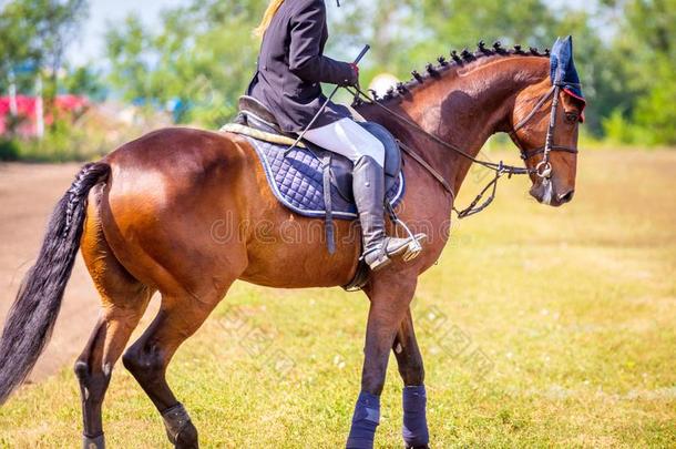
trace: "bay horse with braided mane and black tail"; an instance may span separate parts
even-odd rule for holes
[[[535,173],[544,154],[532,152],[525,160],[530,193],[560,206],[572,200],[575,188],[584,105],[559,90],[541,101],[552,89],[549,59],[534,49],[498,47],[454,57],[455,62],[440,58],[441,65],[428,67],[426,75],[414,72],[406,93],[356,108],[423,161],[404,155],[407,194],[398,214],[413,232],[429,235],[417,259],[393,263],[363,287],[370,310],[361,390],[372,396],[381,394],[392,349],[403,385],[424,382],[410,304],[418,277],[434,265],[449,238],[454,193],[471,165],[448,145],[477,156],[489,136],[504,132],[522,151],[533,151],[547,136],[552,104],[561,110],[553,123],[555,144],[575,151],[549,154],[552,171],[546,178]],[[283,235],[289,220],[301,231],[293,243]],[[228,223],[237,232],[215,238],[215,223]],[[266,223],[266,238],[257,235],[256,223]],[[308,237],[318,223],[293,216],[279,204],[254,149],[235,134],[165,129],[85,165],[53,212],[38,261],[7,320],[0,341],[0,404],[25,379],[49,340],[81,248],[102,300],[102,315],[74,368],[85,447],[104,447],[102,401],[121,356],[162,414],[170,441],[197,447],[197,430],[166,382],[167,365],[236,279],[276,288],[347,284],[360,254],[359,239],[347,238],[351,223],[337,223],[334,255],[325,242]],[[155,292],[162,295],[160,312],[124,351]]]

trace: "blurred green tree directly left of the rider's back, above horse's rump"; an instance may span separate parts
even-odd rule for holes
[[[178,123],[222,124],[254,74],[252,30],[266,3],[194,0],[165,11],[158,33],[127,18],[107,32],[113,86],[129,101],[171,105]]]

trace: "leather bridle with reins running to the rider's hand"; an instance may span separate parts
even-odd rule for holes
[[[453,211],[455,211],[455,213],[458,214],[458,217],[464,218],[464,217],[478,214],[481,211],[485,210],[489,205],[491,205],[493,200],[495,200],[495,194],[498,191],[498,182],[500,181],[500,178],[503,175],[508,175],[508,177],[512,177],[513,175],[533,174],[543,180],[549,180],[552,175],[552,164],[550,163],[550,154],[552,152],[565,152],[565,153],[573,153],[573,154],[577,153],[577,149],[575,149],[575,147],[554,144],[554,133],[556,130],[556,114],[557,114],[557,109],[559,109],[559,96],[560,96],[562,88],[563,88],[562,83],[555,83],[552,86],[552,89],[550,89],[544,95],[542,95],[542,98],[540,98],[540,100],[537,101],[537,103],[535,104],[533,110],[521,122],[519,122],[515,126],[513,126],[512,131],[509,133],[510,136],[512,137],[512,140],[514,141],[514,143],[516,144],[516,146],[519,146],[519,150],[521,151],[521,159],[523,161],[528,161],[539,154],[543,155],[542,161],[536,165],[535,169],[506,165],[502,161],[500,161],[499,163],[494,163],[494,162],[479,160],[479,159],[468,154],[462,149],[460,149],[453,144],[450,144],[448,142],[444,142],[443,140],[439,139],[434,134],[427,132],[419,124],[412,122],[411,120],[407,119],[406,116],[395,112],[392,109],[390,109],[390,108],[386,106],[385,104],[380,103],[379,101],[372,99],[367,92],[363,92],[359,85],[347,86],[345,89],[355,96],[356,102],[366,101],[366,103],[368,103],[368,104],[377,105],[378,108],[382,109],[388,114],[390,114],[391,116],[396,118],[397,120],[399,120],[403,124],[408,125],[409,127],[418,131],[420,134],[424,135],[426,137],[436,142],[437,144],[444,146],[444,147],[453,151],[454,153],[461,155],[462,157],[464,157],[471,162],[474,162],[485,169],[489,169],[495,173],[492,181],[489,182],[489,184],[479,193],[479,195],[477,195],[474,201],[467,208],[464,208],[462,211],[458,211],[455,208],[455,206],[453,206]],[[354,89],[354,91],[352,91],[352,89]],[[525,126],[550,99],[552,99],[552,109],[550,112],[550,125],[547,129],[547,134],[546,134],[546,140],[544,143],[544,146],[542,146],[540,149],[534,149],[534,150],[526,150],[519,143],[519,140],[516,139],[516,132],[519,130],[521,130],[523,126]],[[453,198],[453,202],[454,202],[455,192],[453,191],[451,185],[448,183],[448,181],[445,181],[443,175],[441,173],[439,173],[434,167],[432,167],[424,160],[424,157],[422,157],[420,154],[418,154],[412,147],[410,147],[409,145],[404,144],[403,142],[401,142],[399,140],[397,142],[399,143],[399,146],[406,154],[408,154],[411,159],[413,159],[416,162],[418,162],[434,180],[437,180],[439,182],[439,184],[441,184],[443,190],[445,190],[451,195],[451,197]],[[481,205],[479,205],[479,202],[483,198],[483,196],[489,191],[490,191],[489,197]]]

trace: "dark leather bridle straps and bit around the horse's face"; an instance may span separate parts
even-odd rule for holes
[[[550,163],[550,154],[552,152],[559,151],[559,152],[563,152],[563,153],[577,154],[576,147],[554,144],[554,132],[556,131],[556,114],[559,111],[559,94],[560,93],[561,93],[561,85],[560,84],[552,85],[552,89],[550,89],[537,101],[537,104],[535,104],[535,108],[533,108],[533,110],[521,122],[519,122],[514,126],[514,129],[510,132],[510,136],[512,137],[512,140],[514,141],[516,146],[519,146],[519,150],[521,150],[522,160],[528,161],[529,159],[534,157],[537,154],[543,155],[542,161],[540,161],[537,166],[535,166],[535,171],[534,171],[534,173],[542,178],[549,178],[552,175],[552,164]],[[547,127],[547,135],[546,135],[544,146],[541,146],[541,147],[534,149],[534,150],[526,150],[523,146],[521,146],[519,139],[516,139],[516,132],[519,130],[521,130],[523,126],[525,126],[525,124],[529,123],[535,116],[535,114],[542,109],[542,106],[550,99],[552,99],[552,110],[550,113],[550,125]]]

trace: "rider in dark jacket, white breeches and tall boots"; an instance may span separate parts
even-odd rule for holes
[[[283,131],[300,133],[326,98],[319,83],[355,85],[357,64],[325,57],[328,39],[324,0],[272,0],[255,34],[263,39],[248,95],[264,103]],[[305,139],[355,164],[352,188],[361,222],[363,258],[372,271],[407,251],[411,238],[385,231],[385,147],[357,124],[349,110],[329,102]]]

